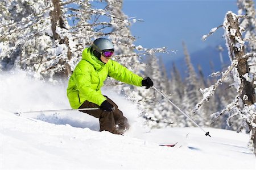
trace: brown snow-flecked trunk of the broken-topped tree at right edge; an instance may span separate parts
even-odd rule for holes
[[[249,65],[247,62],[247,58],[245,56],[245,46],[242,41],[242,35],[240,33],[240,27],[238,24],[238,17],[234,16],[233,13],[228,13],[226,15],[227,22],[229,23],[229,27],[227,31],[229,32],[228,44],[230,50],[230,59],[237,60],[237,70],[239,73],[239,78],[241,80],[242,85],[242,94],[241,99],[243,104],[253,105],[255,103],[255,92],[253,82],[249,82],[246,80],[243,75],[249,73]],[[228,24],[227,24],[228,25]],[[230,41],[230,42],[229,42]],[[245,97],[247,96],[247,97]],[[256,123],[256,119],[252,120]],[[253,133],[253,144],[254,144],[254,152],[256,151],[256,133],[253,126],[249,125],[250,131]]]

